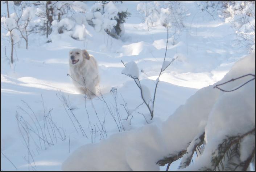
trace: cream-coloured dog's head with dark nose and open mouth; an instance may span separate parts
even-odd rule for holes
[[[78,62],[81,63],[85,59],[90,59],[90,55],[86,50],[75,48],[69,52],[69,63],[72,65],[78,64]]]

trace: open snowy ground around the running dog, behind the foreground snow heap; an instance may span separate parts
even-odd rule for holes
[[[92,4],[88,3],[88,6]],[[6,58],[11,51],[11,45],[2,36],[6,31],[1,28],[1,170],[15,170],[13,164],[22,171],[61,170],[62,163],[80,146],[93,143],[87,147],[91,149],[88,154],[100,155],[100,150],[92,151],[95,145],[101,140],[106,144],[112,144],[107,139],[113,134],[115,136],[111,139],[115,140],[115,145],[110,148],[120,151],[126,150],[122,148],[129,146],[129,143],[136,145],[138,138],[142,136],[148,136],[146,138],[150,138],[150,135],[157,136],[155,132],[158,132],[158,129],[150,127],[151,125],[155,127],[167,125],[168,123],[164,121],[180,105],[185,104],[190,96],[199,89],[220,81],[236,61],[248,55],[243,48],[236,46],[236,35],[230,23],[225,23],[221,19],[213,20],[210,14],[198,10],[193,2],[184,2],[188,9],[184,21],[185,29],[179,34],[175,45],[171,44],[171,38],[168,39],[166,53],[168,61],[177,56],[178,58],[160,77],[154,117],[150,120],[145,104],[139,106],[143,103],[139,88],[133,79],[121,74],[124,69],[121,60],[124,63],[134,61],[137,64],[140,82],[148,87],[153,96],[156,79],[165,56],[167,30],[165,27],[156,27],[149,31],[145,29],[136,10],[137,4],[138,2],[133,1],[124,2],[131,17],[124,23],[123,40],[116,40],[106,33],[96,32],[89,25],[86,26],[88,35],[85,42],[74,40],[66,34],[52,34],[50,35],[52,42],[45,43],[46,36],[34,34],[29,38],[28,50],[24,42],[15,45],[13,69]],[[6,11],[5,8],[6,5],[1,4],[1,11]],[[98,95],[99,98],[85,99],[67,76],[68,52],[73,48],[86,49],[98,61],[99,91],[103,97]],[[110,91],[112,87],[117,90]],[[65,106],[64,97],[71,110]],[[105,102],[102,101],[103,98]],[[127,118],[127,112],[122,106],[125,103],[127,103],[126,108],[132,112],[132,118],[129,116],[128,121],[122,120],[122,125],[118,119]],[[137,106],[139,107],[136,108]],[[218,110],[218,107],[216,109]],[[24,133],[22,129],[22,126],[28,125],[35,129],[34,133],[30,131],[31,135]],[[198,125],[205,126],[205,124]],[[143,126],[144,128],[141,128]],[[182,131],[175,132],[182,133]],[[117,137],[116,133],[119,132],[124,134]],[[131,134],[136,132],[139,132],[138,135]],[[215,131],[210,130],[210,132]],[[49,143],[43,142],[38,135],[47,137],[45,139]],[[118,142],[119,139],[123,141]],[[156,141],[157,144],[159,139],[163,139],[162,136],[145,139],[144,142]],[[172,138],[165,139],[170,142]],[[28,142],[29,150],[26,145]],[[119,143],[125,144],[119,145]],[[113,159],[106,155],[113,150],[104,150],[105,155],[102,155],[106,161],[109,158],[110,168],[111,164],[116,162],[112,162]],[[135,150],[132,148],[129,150],[131,155],[136,155],[133,152],[136,151],[136,147]],[[162,150],[164,149],[159,149],[160,152]],[[171,149],[168,150],[170,151],[168,153],[171,153]],[[128,159],[130,158],[130,168],[127,169],[146,169],[143,165],[138,166],[131,155],[127,155]],[[158,155],[162,154],[157,154],[151,160],[154,162],[157,158],[161,159]],[[100,162],[97,162],[99,166]],[[93,165],[96,162],[87,163],[91,163],[91,169],[94,169]],[[158,165],[154,165],[152,169],[159,168]],[[177,169],[178,166],[178,163],[172,164],[170,169]],[[117,166],[116,169],[121,168]]]

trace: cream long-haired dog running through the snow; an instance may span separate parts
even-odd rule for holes
[[[90,98],[96,95],[99,84],[98,64],[86,50],[75,48],[69,52],[69,69],[74,85]]]

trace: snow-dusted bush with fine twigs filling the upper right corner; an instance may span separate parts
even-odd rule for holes
[[[220,17],[230,22],[239,44],[249,51],[255,50],[255,1],[201,1],[197,4],[214,20]]]

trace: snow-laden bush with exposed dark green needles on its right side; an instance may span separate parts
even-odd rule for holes
[[[58,30],[58,33],[73,31],[72,37],[78,40],[83,39],[80,39],[80,36],[74,36],[77,35],[75,33],[76,28],[87,24],[94,27],[96,32],[105,31],[108,35],[118,39],[124,34],[123,23],[130,15],[121,4],[115,4],[112,1],[97,2],[91,8],[88,8],[84,2],[74,1],[70,4],[70,10],[72,17],[54,20],[52,28],[54,33],[56,33],[56,30]],[[73,25],[72,28],[71,25]]]

